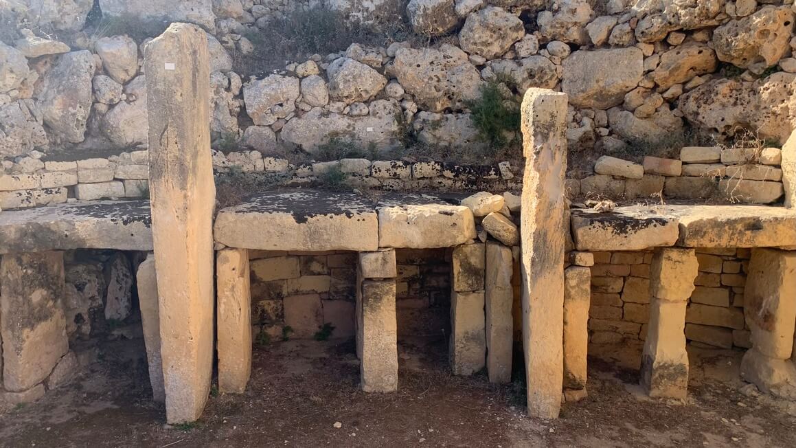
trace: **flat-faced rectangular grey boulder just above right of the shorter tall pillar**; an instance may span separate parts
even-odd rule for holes
[[[576,107],[618,106],[644,74],[644,54],[635,47],[580,50],[562,64],[561,91],[569,95],[569,103]]]

